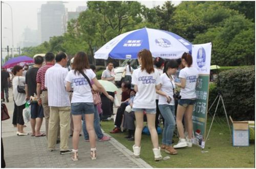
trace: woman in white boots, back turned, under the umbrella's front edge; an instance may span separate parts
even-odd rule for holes
[[[158,135],[155,127],[156,118],[156,89],[160,89],[160,77],[153,67],[152,54],[147,49],[142,49],[138,53],[138,62],[141,68],[134,70],[132,84],[137,92],[133,109],[136,118],[135,145],[133,146],[134,156],[139,158],[141,132],[143,129],[143,112],[146,112],[147,126],[151,133],[153,152],[155,160],[161,160],[160,147],[158,145]]]

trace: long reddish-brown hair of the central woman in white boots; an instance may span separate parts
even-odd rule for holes
[[[138,52],[137,55],[138,58],[141,58],[141,70],[143,71],[146,69],[146,72],[148,74],[151,74],[152,72],[155,72],[154,66],[153,66],[153,58],[150,50],[142,49]]]

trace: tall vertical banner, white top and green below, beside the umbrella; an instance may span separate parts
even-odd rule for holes
[[[204,148],[209,97],[211,43],[192,46],[193,67],[199,71],[193,110],[193,143]]]

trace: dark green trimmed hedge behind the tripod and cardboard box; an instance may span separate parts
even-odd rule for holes
[[[253,120],[255,119],[255,68],[254,66],[239,67],[236,69],[225,70],[219,74],[220,87],[227,115],[234,120]],[[209,106],[217,96],[217,86],[210,84]],[[218,107],[218,115],[224,115],[222,103]],[[216,104],[215,104],[216,105]],[[208,108],[209,108],[208,106]],[[215,106],[216,107],[216,106]],[[211,113],[215,107],[211,108]]]

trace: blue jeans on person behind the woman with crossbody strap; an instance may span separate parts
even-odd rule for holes
[[[83,118],[84,116],[82,116],[82,131],[83,131],[84,139],[89,139],[89,134],[86,130],[86,120]],[[94,130],[97,134],[98,139],[101,139],[103,137],[103,133],[100,128],[99,114],[98,114],[98,109],[96,105],[94,105]]]

